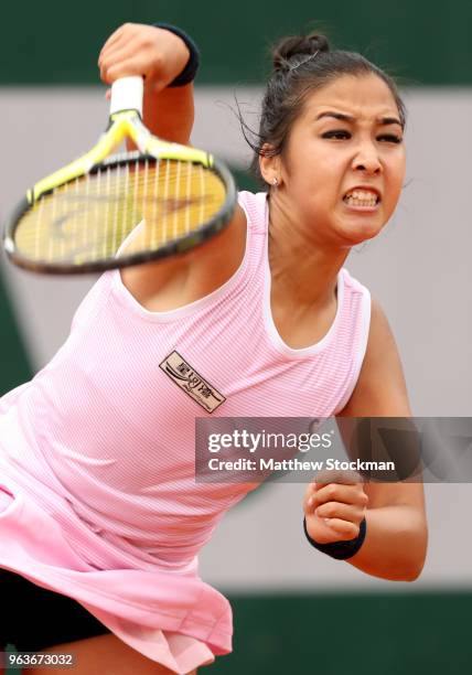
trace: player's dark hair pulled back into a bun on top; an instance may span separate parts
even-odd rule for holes
[[[259,156],[281,154],[287,144],[293,121],[298,118],[309,94],[342,75],[363,76],[374,74],[385,82],[398,108],[401,126],[406,122],[406,108],[397,86],[378,66],[355,52],[330,51],[324,35],[285,38],[272,52],[273,72],[267,83],[262,99],[259,132],[254,133],[243,120],[243,133],[255,151],[253,174],[265,183],[259,169]],[[247,132],[257,141],[249,140]],[[265,143],[271,149],[262,150]]]

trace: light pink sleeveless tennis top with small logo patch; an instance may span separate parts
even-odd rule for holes
[[[244,496],[234,484],[195,482],[195,418],[330,417],[357,381],[369,326],[367,289],[342,269],[329,332],[307,349],[289,347],[270,312],[266,194],[243,192],[239,203],[246,251],[226,283],[183,308],[151,312],[119,271],[104,274],[53,360],[0,399],[0,482],[10,476],[52,514],[103,579],[118,565],[137,575],[194,578],[199,549]],[[25,567],[17,564],[33,577]],[[63,583],[51,569],[41,574],[36,568],[36,579],[84,602],[73,578]],[[108,611],[100,588],[94,586],[95,607]],[[132,604],[139,593],[131,578],[127,588]],[[122,599],[121,587],[115,593]],[[172,607],[172,598],[160,601]],[[206,608],[215,625],[223,609],[212,602]],[[187,621],[186,632],[199,633]],[[221,635],[207,641],[227,650]]]

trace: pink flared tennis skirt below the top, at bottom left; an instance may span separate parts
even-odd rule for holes
[[[195,572],[127,568],[116,550],[114,567],[97,569],[83,553],[98,546],[108,555],[107,543],[65,514],[60,497],[56,513],[40,506],[4,469],[11,467],[0,461],[0,567],[74,598],[120,640],[175,673],[230,652],[229,604]]]

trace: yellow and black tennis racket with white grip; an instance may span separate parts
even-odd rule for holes
[[[3,238],[15,265],[45,274],[127,267],[189,250],[230,221],[229,171],[202,150],[152,136],[142,95],[141,77],[116,81],[97,144],[17,205]],[[138,151],[111,154],[127,138]]]

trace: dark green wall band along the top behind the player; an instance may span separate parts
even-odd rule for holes
[[[104,40],[126,21],[175,22],[204,58],[199,83],[260,82],[277,38],[323,28],[418,84],[472,84],[470,0],[17,0],[2,7],[0,83],[93,83]]]

